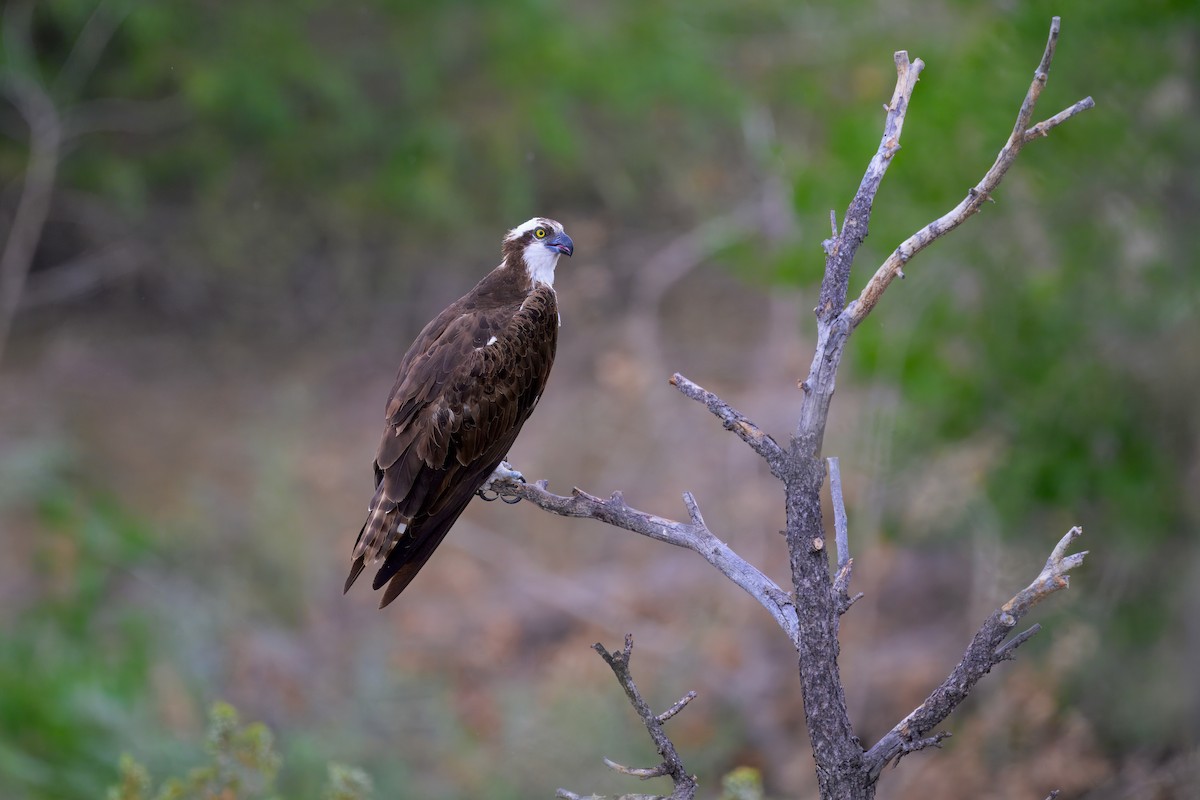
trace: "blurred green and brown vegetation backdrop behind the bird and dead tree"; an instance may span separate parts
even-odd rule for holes
[[[850,345],[827,437],[868,593],[848,700],[882,734],[1080,523],[1092,555],[1045,632],[881,796],[1194,796],[1183,0],[5,4],[5,242],[30,160],[13,86],[64,142],[0,353],[0,794],[100,796],[121,753],[182,774],[218,698],[276,732],[282,796],[320,796],[330,762],[382,798],[628,789],[600,757],[654,753],[587,646],[626,631],[653,703],[701,691],[672,726],[704,786],[749,765],[814,794],[794,654],[686,553],[480,504],[388,613],[341,597],[383,401],[503,231],[562,219],[559,362],[517,465],[668,516],[691,489],[787,582],[773,481],[665,379],[786,437],[892,53],[928,66],[853,287],[990,164],[1051,14],[1039,118],[1097,108]]]

